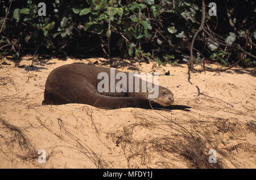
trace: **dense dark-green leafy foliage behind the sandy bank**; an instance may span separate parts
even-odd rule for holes
[[[159,64],[180,59],[187,61],[193,35],[201,22],[201,1],[186,0],[55,0],[0,1],[1,56],[24,54],[96,55],[132,57],[139,61],[154,59]],[[11,6],[10,6],[11,2]],[[46,3],[46,16],[39,16],[38,3]],[[236,62],[242,53],[236,44],[245,45],[255,54],[255,2],[217,1],[217,16],[205,21],[210,33],[216,33],[226,48],[200,33],[196,38],[195,57],[224,65]],[[9,10],[10,6],[10,10]],[[5,20],[6,13],[7,19]],[[111,21],[110,21],[111,20]],[[177,62],[175,62],[177,63]],[[255,65],[246,55],[242,64]]]

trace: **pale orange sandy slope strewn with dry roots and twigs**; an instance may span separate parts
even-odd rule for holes
[[[26,58],[16,66],[3,61],[0,168],[256,168],[256,79],[250,70],[193,73],[191,85],[187,66],[162,66],[155,69],[159,84],[174,92],[175,104],[192,106],[190,111],[105,110],[41,105],[53,68],[96,59],[51,59],[34,62],[33,70]],[[97,62],[108,66],[105,59]],[[115,65],[152,72],[152,63]],[[170,76],[164,75],[168,70]],[[38,162],[40,149],[46,164]],[[208,162],[210,149],[217,152],[216,164]]]

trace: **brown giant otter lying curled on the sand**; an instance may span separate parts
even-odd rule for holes
[[[114,90],[115,92],[99,92],[97,87],[102,79],[97,77],[100,72],[111,75],[110,68],[82,63],[73,63],[55,68],[46,80],[42,104],[80,103],[96,106],[97,108],[117,109],[127,107],[150,108],[151,105],[153,107],[170,106],[174,103],[174,94],[169,89],[161,86],[159,86],[158,97],[148,98],[148,95],[152,92],[142,92],[142,79],[139,79],[139,92],[130,92],[129,84],[127,84],[126,92],[117,92],[116,90]],[[115,75],[118,72],[121,71],[115,70]],[[124,73],[129,77],[128,72]],[[134,78],[134,75],[129,78]],[[127,83],[129,78],[127,78]],[[115,80],[115,84],[118,81]]]

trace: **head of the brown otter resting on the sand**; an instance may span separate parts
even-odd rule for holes
[[[170,106],[174,104],[174,93],[172,93],[169,89],[159,86],[159,95],[157,98],[150,99],[162,106]]]

